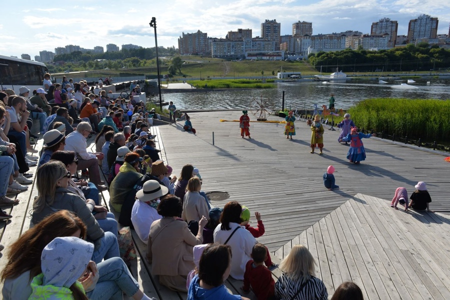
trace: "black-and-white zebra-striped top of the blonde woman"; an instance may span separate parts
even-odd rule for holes
[[[286,274],[282,274],[275,282],[275,298],[291,300],[301,286],[302,281],[293,281]],[[326,300],[328,292],[322,280],[314,276],[292,300]]]

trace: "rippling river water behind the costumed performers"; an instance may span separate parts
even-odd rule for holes
[[[412,83],[419,87],[413,90],[401,90],[391,88],[391,85],[405,83],[406,80],[388,81],[387,84],[379,84],[378,81],[346,80],[345,82],[280,82],[273,89],[230,89],[206,92],[178,92],[162,93],[163,101],[173,101],[180,109],[219,109],[219,108],[251,108],[254,106],[254,98],[271,99],[277,108],[281,108],[282,91],[284,90],[285,107],[298,109],[311,109],[313,104],[318,106],[328,105],[330,93],[334,94],[335,107],[348,108],[354,102],[366,98],[434,98],[450,99],[450,80],[414,79]],[[426,84],[430,81],[430,84]]]

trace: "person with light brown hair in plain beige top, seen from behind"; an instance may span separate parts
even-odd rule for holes
[[[200,221],[204,215],[209,220],[208,206],[206,200],[200,195],[201,182],[197,176],[189,178],[187,192],[184,194],[183,212],[181,218],[187,222]]]

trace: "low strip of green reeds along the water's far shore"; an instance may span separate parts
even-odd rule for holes
[[[215,80],[187,80],[197,88],[276,88],[273,79],[215,79]]]

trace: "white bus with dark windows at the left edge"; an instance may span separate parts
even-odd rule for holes
[[[45,63],[0,55],[1,89],[11,88],[18,94],[20,86],[31,91],[43,87],[43,75],[49,73]]]

